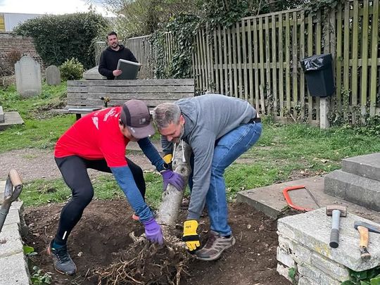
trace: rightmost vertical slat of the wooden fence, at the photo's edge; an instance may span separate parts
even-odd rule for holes
[[[376,96],[377,96],[377,54],[379,52],[379,0],[373,0],[372,6],[374,14],[372,15],[372,46],[371,46],[371,87],[369,101],[369,115],[376,115]]]

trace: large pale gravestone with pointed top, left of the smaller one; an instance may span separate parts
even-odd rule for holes
[[[41,67],[30,56],[23,56],[15,63],[16,87],[22,97],[36,96],[41,93]]]

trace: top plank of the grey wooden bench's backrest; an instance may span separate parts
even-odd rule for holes
[[[84,86],[191,86],[193,79],[162,79],[162,80],[68,80],[68,87]]]

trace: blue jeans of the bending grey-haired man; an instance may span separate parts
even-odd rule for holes
[[[210,217],[211,230],[221,236],[228,236],[232,233],[228,224],[224,170],[258,141],[261,130],[261,122],[253,122],[233,129],[216,141],[210,188],[205,198],[205,205]]]

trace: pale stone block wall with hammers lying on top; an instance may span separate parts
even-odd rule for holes
[[[341,218],[339,246],[331,248],[331,217],[325,211],[321,208],[278,220],[279,274],[289,279],[289,270],[294,268],[298,284],[338,285],[349,279],[348,268],[360,272],[380,265],[380,234],[369,233],[368,251],[372,258],[362,261],[360,234],[353,226],[356,220],[374,222],[348,213]]]

